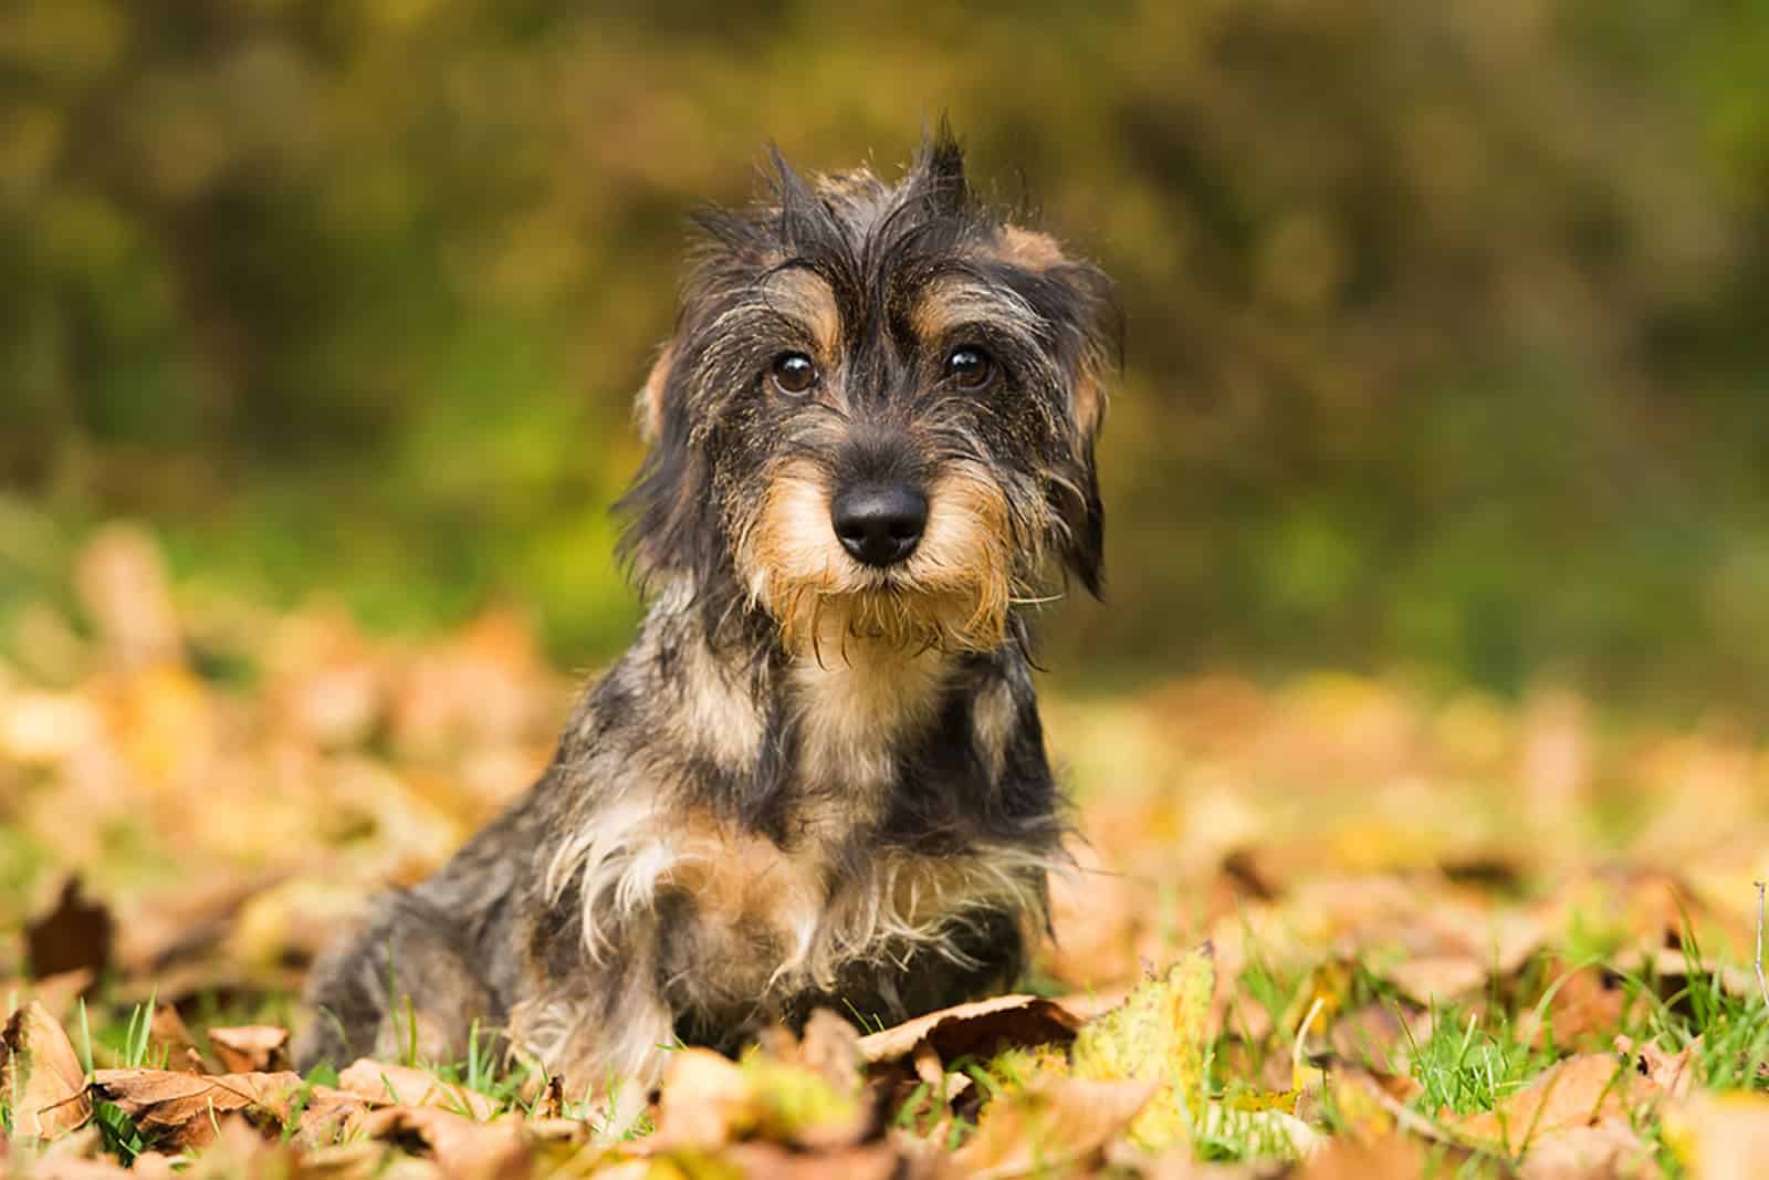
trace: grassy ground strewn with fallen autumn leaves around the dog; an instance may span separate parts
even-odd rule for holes
[[[290,1070],[306,966],[545,762],[520,614],[375,639],[99,533],[0,660],[0,1176],[1750,1176],[1769,752],[1410,678],[1047,678],[1079,869],[1022,994],[732,1061],[633,1129],[478,1046]],[[847,1014],[851,1015],[851,1014]]]

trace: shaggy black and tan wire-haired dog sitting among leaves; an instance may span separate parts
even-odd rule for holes
[[[800,177],[699,218],[621,501],[647,600],[540,782],[315,964],[302,1069],[460,1060],[653,1086],[817,1007],[1007,989],[1067,805],[1031,609],[1099,596],[1120,315],[980,200],[943,124],[895,184]]]

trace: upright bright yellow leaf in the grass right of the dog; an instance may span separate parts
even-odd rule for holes
[[[1139,1146],[1159,1152],[1183,1143],[1191,1120],[1203,1109],[1214,985],[1215,962],[1206,943],[1076,1035],[1076,1077],[1160,1083],[1157,1099],[1130,1129]]]

